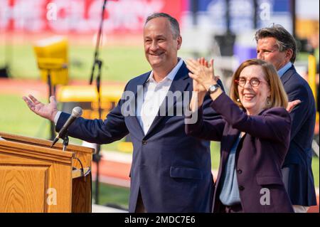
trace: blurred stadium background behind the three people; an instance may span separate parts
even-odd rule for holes
[[[9,79],[0,78],[1,132],[49,138],[48,121],[33,115],[21,99],[22,95],[28,93],[40,97],[43,102],[48,98],[48,88],[41,80],[33,46],[43,38],[67,38],[68,85],[88,85],[102,2],[0,0],[0,69],[9,75]],[[253,35],[256,28],[272,23],[280,23],[296,35],[300,46],[296,65],[308,79],[310,53],[319,63],[319,1],[294,1],[294,14],[292,2],[107,1],[100,48],[100,58],[103,60],[102,90],[117,88],[121,93],[127,80],[150,70],[144,58],[142,28],[146,16],[154,11],[169,13],[181,23],[183,45],[179,56],[185,59],[197,56],[215,58],[217,71],[222,75],[226,87],[230,83],[230,74],[238,64],[246,58],[255,57]],[[219,39],[233,37],[226,36],[227,33],[234,35],[231,48],[228,39],[225,42]],[[318,40],[317,46],[315,39]],[[63,86],[58,85],[58,94],[61,89]],[[59,105],[63,108],[63,103]],[[319,142],[319,125],[316,134]],[[71,142],[82,143],[78,139],[72,139]],[[219,145],[212,143],[211,146],[215,172],[218,169]],[[132,149],[121,142],[102,146],[101,181],[107,184],[100,185],[100,204],[127,208],[131,152]],[[319,194],[319,157],[316,155],[313,158],[313,171]]]

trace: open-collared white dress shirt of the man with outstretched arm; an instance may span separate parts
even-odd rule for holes
[[[144,134],[148,132],[152,122],[154,122],[154,118],[159,112],[160,105],[164,101],[171,83],[174,80],[176,73],[178,73],[178,70],[181,68],[182,63],[183,60],[179,58],[176,66],[159,83],[154,80],[154,73],[151,71],[148,80],[144,83],[143,94],[139,95],[138,93],[136,115],[142,130],[144,130]],[[60,114],[61,112],[58,111],[55,115],[55,125],[57,125]]]

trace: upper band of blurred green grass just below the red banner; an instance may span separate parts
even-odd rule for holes
[[[11,75],[13,78],[40,78],[32,46],[11,46]],[[70,45],[70,80],[89,80],[95,48]],[[0,68],[5,64],[5,47],[0,45]],[[150,70],[142,46],[106,46],[100,49],[103,61],[102,81],[127,81]]]

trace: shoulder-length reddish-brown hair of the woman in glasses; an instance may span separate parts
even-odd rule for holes
[[[230,88],[230,97],[233,100],[233,102],[237,103],[239,107],[243,108],[242,103],[238,101],[238,84],[235,83],[235,81],[238,80],[242,70],[250,65],[260,65],[262,70],[265,72],[265,80],[267,81],[270,88],[270,105],[268,105],[267,108],[286,108],[288,105],[288,97],[287,93],[284,91],[277,70],[271,63],[267,63],[264,60],[260,59],[245,60],[235,71],[235,74],[233,74],[232,84]]]

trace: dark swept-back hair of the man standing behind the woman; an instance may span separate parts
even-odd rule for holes
[[[269,37],[277,40],[276,43],[280,52],[292,49],[293,54],[290,61],[294,63],[297,57],[297,43],[289,31],[279,24],[274,24],[268,28],[261,28],[255,33],[255,41]]]

